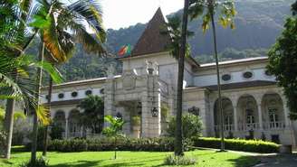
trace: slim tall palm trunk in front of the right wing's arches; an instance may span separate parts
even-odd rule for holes
[[[216,79],[217,79],[217,92],[218,92],[218,109],[220,113],[220,132],[221,132],[221,151],[225,151],[225,142],[224,142],[224,115],[222,108],[222,96],[221,96],[221,81],[220,81],[220,69],[218,66],[218,57],[217,57],[217,44],[216,44],[216,24],[214,20],[214,8],[210,9],[211,14],[211,23],[213,27],[213,37],[214,37],[214,49],[216,56]]]

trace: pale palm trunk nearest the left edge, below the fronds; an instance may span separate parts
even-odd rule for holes
[[[13,140],[13,130],[14,130],[14,106],[15,99],[7,99],[6,109],[5,109],[5,158],[10,159],[10,152]]]

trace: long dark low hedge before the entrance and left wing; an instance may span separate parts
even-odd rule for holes
[[[42,150],[41,144],[38,150]],[[185,150],[192,148],[191,140],[184,142]],[[27,149],[31,145],[26,145]],[[174,138],[120,138],[115,143],[114,139],[102,137],[99,139],[69,139],[53,140],[48,144],[49,151],[57,152],[85,152],[85,151],[146,151],[146,152],[172,152],[174,150]]]

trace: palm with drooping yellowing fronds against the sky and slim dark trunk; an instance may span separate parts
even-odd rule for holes
[[[59,4],[59,3],[58,3]],[[102,11],[99,3],[88,0],[83,1],[79,0],[71,5],[62,6],[57,5],[53,9],[53,14],[57,16],[56,24],[52,23],[52,31],[56,30],[57,42],[62,43],[62,51],[67,52],[65,60],[52,60],[50,61],[53,65],[61,65],[65,61],[69,60],[72,57],[74,42],[80,42],[82,44],[82,49],[87,51],[88,53],[97,53],[104,54],[105,50],[103,48],[103,42],[105,42],[106,32],[104,31],[102,25]],[[91,27],[94,33],[87,32],[83,22],[86,22],[89,27]],[[68,30],[72,30],[72,33],[68,33]],[[93,37],[95,35],[95,37]],[[61,38],[61,36],[63,36]],[[66,43],[64,42],[66,41]],[[49,40],[49,42],[53,42]],[[53,49],[54,51],[54,49]],[[53,51],[49,51],[53,53]],[[47,56],[51,58],[50,56]],[[52,89],[53,89],[53,80],[50,79],[49,91],[48,91],[48,102],[47,107],[51,107],[51,97],[52,97]],[[43,155],[46,155],[47,149],[47,134],[48,127],[46,126],[44,131],[44,146],[43,146]]]

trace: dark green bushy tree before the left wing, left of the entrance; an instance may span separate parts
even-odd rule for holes
[[[81,113],[81,125],[90,128],[92,133],[99,134],[104,123],[104,101],[99,96],[84,98],[78,107],[83,109]]]

